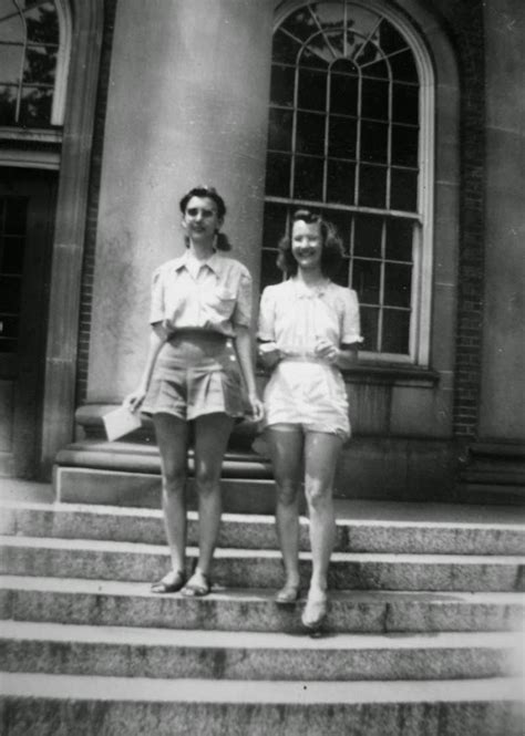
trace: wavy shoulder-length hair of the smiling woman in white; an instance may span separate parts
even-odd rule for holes
[[[322,215],[312,212],[309,209],[298,209],[291,216],[289,232],[284,235],[279,240],[277,266],[289,276],[295,276],[297,273],[297,261],[291,252],[291,234],[294,222],[299,220],[307,222],[307,225],[319,222],[322,243],[321,273],[329,279],[333,279],[341,267],[344,252],[341,238],[339,237],[334,225],[326,220]]]

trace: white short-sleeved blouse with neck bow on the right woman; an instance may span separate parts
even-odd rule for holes
[[[320,339],[337,346],[362,342],[357,294],[328,279],[313,289],[296,278],[267,287],[258,338],[289,355],[313,355]]]

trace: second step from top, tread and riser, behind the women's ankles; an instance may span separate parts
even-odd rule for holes
[[[0,572],[22,576],[154,581],[169,568],[167,548],[85,539],[0,537]],[[197,558],[188,548],[188,570]],[[334,552],[331,589],[373,590],[523,590],[524,558],[517,556],[382,554]],[[306,585],[311,567],[300,554]],[[282,563],[277,550],[218,549],[214,581],[227,588],[278,588]]]

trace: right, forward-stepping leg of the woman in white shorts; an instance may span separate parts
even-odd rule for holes
[[[326,613],[326,591],[328,566],[336,540],[336,517],[333,512],[333,476],[342,440],[336,435],[308,433],[305,440],[305,490],[310,517],[310,543],[312,573],[308,603],[320,603],[317,618]],[[311,608],[311,607],[310,607]],[[313,610],[313,609],[312,609]],[[310,623],[315,623],[311,615]],[[307,615],[308,620],[308,615]],[[303,616],[303,622],[307,623]]]

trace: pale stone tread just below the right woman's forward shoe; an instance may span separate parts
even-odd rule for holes
[[[523,645],[517,632],[431,632],[418,634],[331,634],[311,637],[282,632],[205,631],[202,629],[155,629],[32,621],[2,621],[0,639],[54,643],[96,643],[186,649],[267,650],[471,650]],[[522,636],[523,639],[523,636]]]

